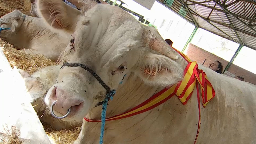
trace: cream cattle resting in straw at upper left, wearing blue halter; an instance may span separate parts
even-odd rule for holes
[[[70,36],[52,32],[43,25],[41,18],[31,17],[14,10],[0,18],[2,30],[0,37],[14,47],[24,49],[29,54],[43,54],[57,61],[69,43]]]

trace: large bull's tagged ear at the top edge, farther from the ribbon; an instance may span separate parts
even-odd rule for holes
[[[81,11],[65,4],[62,0],[37,0],[37,12],[44,22],[54,30],[74,33]]]

